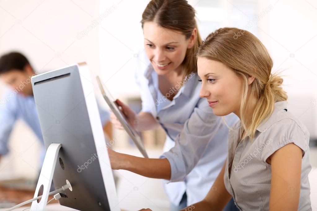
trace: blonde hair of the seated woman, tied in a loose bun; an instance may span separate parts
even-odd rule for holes
[[[243,79],[240,105],[241,134],[254,137],[256,128],[273,113],[274,103],[287,100],[282,89],[283,79],[272,74],[273,61],[262,42],[252,33],[238,28],[219,28],[209,34],[197,51],[197,57],[216,60],[235,71]],[[248,85],[248,77],[254,81]],[[251,94],[258,102],[251,124],[246,125],[246,114]]]

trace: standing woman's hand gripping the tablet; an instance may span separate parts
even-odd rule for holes
[[[121,102],[120,100],[116,100],[115,103],[117,103],[118,106],[121,107],[121,111],[124,115],[126,115],[126,118],[128,119],[128,121],[130,122],[130,124],[134,127],[136,125],[136,113],[130,109],[129,106],[127,106],[126,104],[124,104],[123,102]],[[113,112],[111,111],[111,114],[110,114],[110,118],[111,118],[111,123],[113,124],[113,126],[117,129],[121,129],[123,130],[123,127],[121,125],[121,123],[119,122],[119,120],[117,119],[117,117],[113,114]]]

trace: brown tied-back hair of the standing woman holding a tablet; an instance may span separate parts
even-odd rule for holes
[[[152,0],[142,14],[142,28],[145,22],[155,22],[159,26],[181,32],[186,39],[191,37],[194,28],[197,28],[195,9],[186,0]],[[197,28],[197,39],[192,48],[187,49],[183,61],[184,76],[197,72],[195,53],[202,43]]]

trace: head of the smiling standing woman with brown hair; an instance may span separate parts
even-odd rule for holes
[[[183,77],[197,71],[194,55],[202,40],[197,30],[195,11],[187,1],[151,1],[142,14],[141,23],[145,45],[150,47],[146,48],[146,54],[154,63],[154,68],[155,64],[164,67],[174,63],[169,65],[169,70],[179,71]],[[164,37],[157,40],[163,31],[166,40]],[[158,42],[160,40],[162,42]],[[153,54],[155,49],[158,51],[156,57]],[[163,49],[171,52],[171,58],[164,58]],[[165,70],[168,68],[165,67]]]

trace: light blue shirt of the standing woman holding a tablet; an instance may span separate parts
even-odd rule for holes
[[[144,69],[139,66],[136,72],[142,111],[151,113],[167,136],[165,153],[160,157],[171,164],[171,180],[163,181],[165,192],[178,205],[186,191],[187,205],[191,205],[205,197],[223,167],[229,128],[213,114],[207,100],[199,97],[197,73],[189,75],[173,100],[166,103],[168,99],[158,97],[158,75],[152,65]],[[229,127],[238,121],[234,114],[225,119]]]

